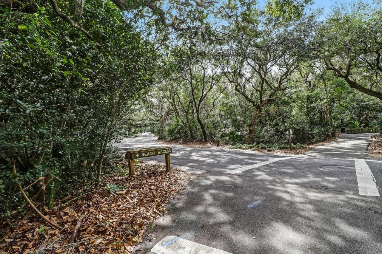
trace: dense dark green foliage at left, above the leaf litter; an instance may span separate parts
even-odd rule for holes
[[[58,5],[71,14],[72,3]],[[22,186],[49,179],[40,180],[47,192],[38,196],[49,209],[57,190],[94,181],[97,162],[105,158],[108,166],[111,142],[128,124],[121,116],[153,82],[154,46],[115,5],[88,1],[82,17],[79,24],[102,48],[49,4],[33,14],[0,10],[0,200],[6,207],[22,202],[19,194],[13,198],[11,158]],[[38,191],[38,185],[27,190],[31,199]]]

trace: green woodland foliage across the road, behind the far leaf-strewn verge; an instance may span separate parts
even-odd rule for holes
[[[167,76],[154,92],[161,108],[149,110],[159,116],[150,123],[155,132],[163,133],[160,138],[203,139],[202,126],[197,121],[199,113],[209,140],[219,138],[226,144],[244,143],[254,109],[262,102],[265,104],[257,116],[251,140],[255,145],[287,144],[288,128],[293,130],[293,144],[311,144],[333,137],[341,124],[348,127],[354,121],[358,121],[360,127],[379,124],[380,101],[351,89],[344,78],[327,69],[327,58],[320,55],[343,54],[348,17],[353,20],[358,15],[355,13],[364,13],[370,6],[360,4],[361,10],[335,11],[319,24],[316,22],[319,13],[308,13],[305,8],[309,4],[311,1],[269,1],[262,11],[251,5],[251,1],[230,1],[225,6],[227,13],[232,14],[226,20],[230,27],[217,26],[218,32],[214,34],[217,40],[212,42],[212,47],[202,44],[195,47],[184,42],[171,48],[171,58],[166,61]],[[379,14],[372,12],[373,17],[359,14],[366,19],[359,19],[359,25],[354,27],[374,24]],[[224,19],[224,15],[219,18]],[[358,33],[361,31],[365,32],[360,28]],[[370,31],[368,36],[379,36],[374,28]],[[357,30],[353,32],[355,34],[348,36],[356,36]],[[320,40],[322,38],[326,40]],[[195,66],[206,63],[212,56],[217,63],[214,67],[205,66],[204,76],[204,70]],[[339,59],[334,63],[341,63]],[[193,95],[199,98],[202,87],[211,81],[209,75],[214,68],[220,68],[227,75],[212,87],[200,106],[194,105]],[[286,68],[291,71],[285,78]],[[368,70],[371,69],[361,71],[370,75]],[[206,77],[208,82],[198,83],[200,77]],[[378,87],[378,80],[372,84]],[[278,81],[280,87],[277,87]],[[217,97],[225,84],[229,84],[227,89]]]

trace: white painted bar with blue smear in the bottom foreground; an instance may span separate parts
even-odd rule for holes
[[[151,251],[157,254],[232,254],[176,236],[166,236]]]

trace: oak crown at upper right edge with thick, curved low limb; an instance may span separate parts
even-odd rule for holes
[[[351,88],[382,100],[382,4],[339,7],[317,29],[316,50]]]

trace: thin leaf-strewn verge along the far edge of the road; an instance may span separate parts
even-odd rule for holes
[[[197,140],[174,140],[174,141],[164,141],[164,140],[158,140],[157,142],[163,145],[169,145],[169,146],[185,146],[190,148],[203,148],[203,149],[219,149],[219,150],[233,150],[233,151],[252,151],[254,153],[269,153],[269,154],[281,154],[281,155],[298,155],[301,153],[306,153],[309,150],[312,150],[316,146],[323,145],[325,143],[329,143],[330,141],[333,141],[339,137],[341,137],[343,134],[336,133],[336,136],[334,138],[327,138],[325,141],[315,143],[312,145],[307,145],[305,148],[297,148],[293,150],[289,149],[274,149],[274,150],[268,150],[268,149],[240,149],[240,148],[233,148],[230,145],[224,145],[220,144],[219,147],[216,146],[216,143],[211,141],[197,141]]]

